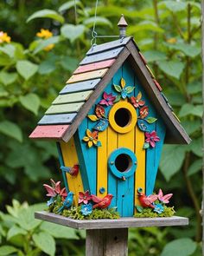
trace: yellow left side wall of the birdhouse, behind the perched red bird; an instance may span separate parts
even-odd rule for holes
[[[62,153],[64,165],[66,167],[73,167],[73,165],[79,164],[73,137],[67,143],[64,141],[61,141],[61,153]],[[68,182],[69,190],[73,191],[73,194],[74,194],[74,197],[73,197],[74,206],[77,206],[78,199],[79,199],[79,192],[84,191],[80,172],[77,176],[72,176],[70,174],[67,174],[67,182]]]

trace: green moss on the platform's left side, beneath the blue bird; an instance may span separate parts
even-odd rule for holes
[[[48,207],[48,212],[59,214],[58,210],[62,206],[62,202],[54,202]],[[81,207],[72,207],[70,209],[64,209],[61,212],[62,216],[72,218],[74,220],[99,220],[99,219],[119,219],[119,213],[116,212],[115,208],[111,209],[93,209],[90,215],[83,215],[80,212]]]

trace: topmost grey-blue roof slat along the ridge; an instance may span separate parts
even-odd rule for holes
[[[107,49],[114,49],[114,48],[118,48],[121,46],[124,46],[126,43],[128,43],[131,40],[131,36],[129,37],[125,37],[123,39],[118,39],[112,42],[108,42],[108,43],[102,43],[99,45],[92,45],[92,48],[89,49],[86,53],[87,56],[99,53],[99,52],[103,52],[106,51]]]

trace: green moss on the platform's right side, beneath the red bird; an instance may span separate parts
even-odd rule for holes
[[[171,217],[175,214],[174,207],[164,206],[163,213],[156,213],[152,208],[143,208],[142,213],[136,213],[134,217],[136,218],[155,218],[155,217]]]

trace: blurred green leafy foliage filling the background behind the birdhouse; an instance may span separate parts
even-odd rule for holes
[[[45,200],[41,185],[61,176],[54,143],[28,139],[90,48],[95,3],[76,3],[77,16],[74,1],[0,3],[0,28],[11,36],[10,44],[0,43],[0,255],[84,255],[85,233],[33,220],[35,209],[44,207],[33,205]],[[98,34],[118,35],[121,13],[193,140],[164,146],[156,181],[156,191],[174,193],[176,214],[188,217],[189,226],[132,229],[129,254],[201,255],[201,3],[101,0]],[[41,28],[54,36],[37,39]],[[43,50],[50,43],[54,49]]]

